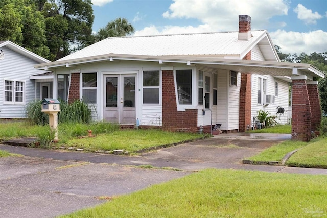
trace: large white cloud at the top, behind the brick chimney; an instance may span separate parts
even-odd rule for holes
[[[252,18],[252,29],[265,29],[273,16],[287,15],[285,0],[175,0],[162,14],[168,19],[194,18],[212,26],[215,31],[237,30],[238,15]]]

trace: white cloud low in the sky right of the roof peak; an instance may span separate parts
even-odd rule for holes
[[[286,54],[300,54],[301,52],[310,54],[327,51],[327,32],[322,30],[308,33],[277,30],[269,34],[273,43],[281,47],[281,52]]]

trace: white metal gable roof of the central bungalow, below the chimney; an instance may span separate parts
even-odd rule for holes
[[[107,54],[149,56],[196,56],[242,59],[256,44],[267,46],[267,61],[278,61],[278,55],[266,30],[251,31],[249,40],[238,40],[238,32],[173,34],[156,36],[110,37],[58,61]],[[269,50],[270,47],[270,50]],[[264,54],[265,53],[265,54]]]

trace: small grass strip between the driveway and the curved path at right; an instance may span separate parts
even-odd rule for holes
[[[309,142],[310,143],[310,142]],[[287,140],[264,150],[258,155],[254,155],[249,160],[254,161],[281,161],[283,157],[296,149],[306,146],[308,142]]]

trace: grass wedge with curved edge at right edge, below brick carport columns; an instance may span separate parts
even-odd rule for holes
[[[308,144],[294,153],[286,162],[288,166],[327,168],[327,138]]]

